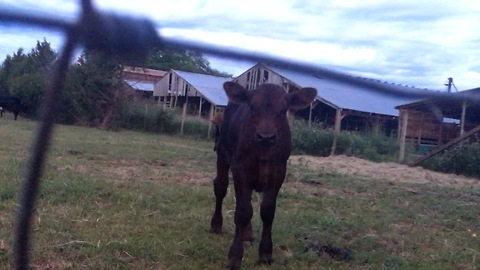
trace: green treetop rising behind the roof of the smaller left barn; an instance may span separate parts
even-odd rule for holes
[[[186,50],[154,49],[146,61],[146,67],[158,70],[178,69],[214,76],[232,77],[231,74],[210,67],[201,53]]]

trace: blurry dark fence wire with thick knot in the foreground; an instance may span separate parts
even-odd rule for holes
[[[121,56],[124,59],[145,56],[145,52],[152,47],[180,48],[211,56],[264,62],[300,72],[318,74],[342,82],[368,87],[371,91],[385,95],[418,97],[419,99],[443,97],[446,95],[445,93],[433,91],[413,93],[400,88],[392,89],[388,85],[374,83],[312,64],[267,56],[252,51],[215,46],[193,40],[162,37],[158,34],[158,27],[151,20],[99,12],[94,9],[90,0],[81,0],[80,5],[82,10],[76,22],[25,11],[12,11],[0,6],[0,22],[24,27],[33,26],[60,30],[64,32],[66,37],[55,72],[45,92],[45,99],[41,107],[42,122],[33,141],[33,150],[22,183],[13,239],[12,267],[14,269],[29,269],[31,218],[35,208],[42,172],[45,167],[45,158],[51,141],[55,122],[56,100],[60,100],[58,96],[62,94],[69,63],[75,48],[79,46],[104,51],[110,55]]]

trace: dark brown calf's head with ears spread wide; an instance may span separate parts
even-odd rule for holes
[[[315,88],[301,88],[287,94],[280,86],[263,84],[248,91],[235,82],[223,84],[229,102],[249,106],[248,123],[254,132],[254,141],[261,146],[277,143],[279,130],[288,127],[287,111],[310,105],[317,96]]]

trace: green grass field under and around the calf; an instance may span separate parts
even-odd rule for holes
[[[0,269],[36,123],[0,119]],[[33,227],[34,269],[220,269],[233,234],[208,233],[212,142],[57,126]],[[379,172],[381,173],[381,172]],[[388,175],[385,176],[388,178]],[[233,185],[231,185],[233,186]],[[290,166],[272,266],[242,269],[480,269],[480,190],[378,181]]]

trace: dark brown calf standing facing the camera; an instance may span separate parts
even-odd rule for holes
[[[287,94],[280,86],[263,84],[247,91],[235,82],[223,85],[229,102],[225,109],[217,149],[217,176],[214,180],[215,212],[211,232],[222,232],[222,203],[232,170],[235,187],[235,236],[228,253],[227,269],[239,269],[242,241],[253,241],[250,223],[253,190],[263,192],[260,216],[263,222],[259,247],[261,263],[272,263],[272,223],[277,194],[285,179],[291,150],[289,109],[307,107],[317,95],[314,88]]]

